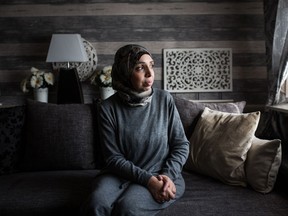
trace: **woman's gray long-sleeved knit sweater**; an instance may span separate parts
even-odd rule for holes
[[[172,96],[153,89],[151,103],[132,107],[118,93],[100,107],[106,171],[146,186],[152,175],[181,175],[189,152]]]

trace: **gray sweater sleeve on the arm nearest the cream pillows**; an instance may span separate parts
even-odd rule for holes
[[[189,141],[186,138],[182,122],[174,100],[170,97],[169,103],[169,155],[162,168],[162,174],[169,176],[173,181],[178,178],[188,158]]]

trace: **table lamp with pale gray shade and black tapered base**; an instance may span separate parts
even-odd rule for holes
[[[79,34],[52,35],[46,62],[66,64],[58,69],[58,104],[84,103],[77,68],[71,67],[70,63],[86,61],[87,53]]]

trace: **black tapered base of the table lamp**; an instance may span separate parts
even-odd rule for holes
[[[82,86],[76,68],[59,70],[57,103],[84,103]]]

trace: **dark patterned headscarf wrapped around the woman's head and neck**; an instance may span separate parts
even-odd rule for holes
[[[131,75],[142,55],[151,53],[143,46],[128,44],[117,50],[112,66],[112,87],[130,105],[143,105],[151,100],[151,92],[138,93],[131,83]]]

